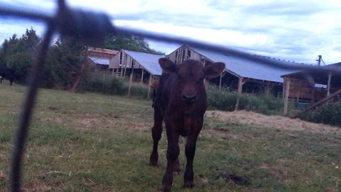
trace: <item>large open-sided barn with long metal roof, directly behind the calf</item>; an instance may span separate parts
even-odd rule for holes
[[[248,53],[245,53],[249,55]],[[250,56],[250,55],[249,55]],[[272,63],[286,65],[303,65],[302,63],[294,63],[286,60],[277,60],[265,56],[252,55],[254,58],[262,60],[271,60]],[[185,59],[201,60],[202,65],[208,65],[214,62],[224,62],[226,68],[220,78],[215,78],[212,82],[217,85],[229,87],[231,90],[238,90],[239,93],[259,93],[272,94],[274,96],[281,95],[283,92],[283,79],[281,75],[293,73],[297,70],[290,68],[274,68],[273,66],[264,65],[261,61],[250,60],[247,57],[231,55],[228,53],[217,53],[211,50],[195,48],[192,46],[181,46],[167,56],[175,63],[181,63]]]

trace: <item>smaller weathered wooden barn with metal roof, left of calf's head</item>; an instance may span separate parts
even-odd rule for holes
[[[150,85],[162,73],[158,59],[163,57],[164,55],[122,49],[110,60],[109,68],[116,77],[129,75],[132,81]]]

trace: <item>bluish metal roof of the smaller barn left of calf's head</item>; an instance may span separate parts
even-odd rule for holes
[[[151,53],[141,53],[132,50],[124,50],[124,52],[134,58],[136,62],[142,65],[152,75],[161,75],[162,69],[158,64],[158,59],[165,57],[164,55],[154,55]]]

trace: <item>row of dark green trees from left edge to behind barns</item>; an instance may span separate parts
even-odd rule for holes
[[[33,57],[40,45],[40,36],[36,31],[26,29],[20,38],[14,34],[5,39],[0,47],[0,67],[11,68],[16,72],[16,82],[27,85]],[[87,60],[87,43],[70,36],[59,36],[50,46],[44,68],[40,71],[40,86],[60,90],[77,91],[90,81],[94,65]],[[144,53],[161,54],[149,47],[144,38],[136,36],[108,35],[101,48],[112,50],[134,50]]]

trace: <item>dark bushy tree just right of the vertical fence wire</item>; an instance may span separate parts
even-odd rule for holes
[[[84,42],[70,36],[60,36],[48,51],[43,86],[76,92],[85,85],[92,72],[86,50]]]

